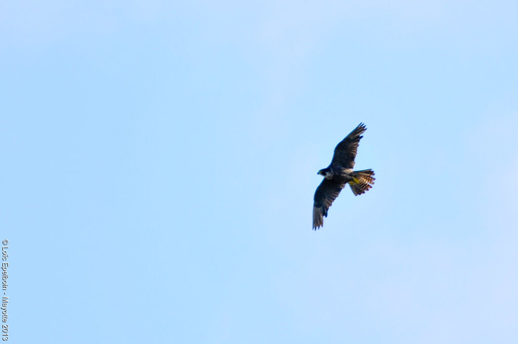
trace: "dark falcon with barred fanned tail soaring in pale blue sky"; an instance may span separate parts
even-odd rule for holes
[[[324,225],[324,216],[327,217],[327,210],[347,183],[355,196],[361,195],[372,188],[371,184],[374,184],[376,179],[373,177],[373,170],[353,171],[359,139],[363,137],[361,135],[366,130],[365,124],[360,123],[336,146],[333,160],[329,166],[318,171],[319,175],[324,176],[324,180],[315,191],[313,230],[317,230]]]

